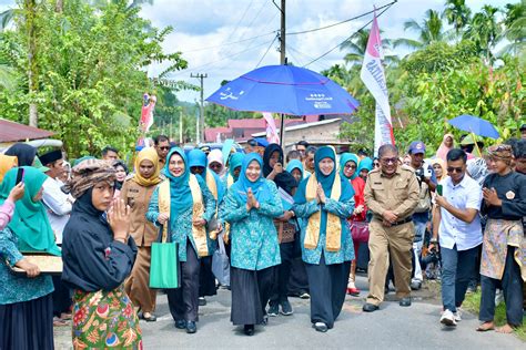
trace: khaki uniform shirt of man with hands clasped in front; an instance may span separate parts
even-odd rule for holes
[[[415,172],[398,166],[392,177],[385,176],[381,169],[368,173],[365,183],[365,203],[374,217],[383,219],[385,210],[392,210],[398,222],[413,215],[418,204],[419,187]]]

